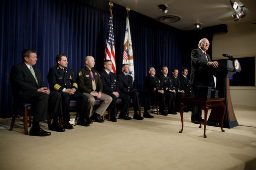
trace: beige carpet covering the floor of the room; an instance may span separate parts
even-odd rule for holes
[[[48,137],[24,135],[21,118],[8,131],[10,118],[0,119],[0,170],[256,170],[256,110],[234,110],[240,126],[207,126],[207,138],[191,112],[182,134],[179,114],[94,122]]]

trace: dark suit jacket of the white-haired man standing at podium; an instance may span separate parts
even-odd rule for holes
[[[209,55],[206,55],[208,61],[211,61]],[[207,66],[208,61],[200,48],[192,50],[190,75],[191,85],[212,86],[213,73],[211,72],[211,66]]]

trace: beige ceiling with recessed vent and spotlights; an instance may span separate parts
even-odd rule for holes
[[[241,7],[233,9],[230,0],[112,0],[151,18],[160,20],[180,30],[194,29],[195,23],[202,27],[219,24],[239,24],[250,22],[256,25],[256,0],[232,0],[246,6],[247,15],[234,21],[232,15],[240,12]],[[166,4],[168,12],[163,13],[158,4]],[[179,21],[176,21],[180,18]]]

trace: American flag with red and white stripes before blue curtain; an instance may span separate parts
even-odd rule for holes
[[[116,73],[116,57],[115,57],[115,38],[113,29],[113,17],[110,16],[108,35],[106,38],[106,48],[105,48],[105,60],[111,60],[112,70]]]

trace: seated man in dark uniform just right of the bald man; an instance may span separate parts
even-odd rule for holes
[[[112,97],[112,102],[110,103],[110,113],[111,118],[110,120],[116,122],[117,116],[117,99],[122,99],[122,109],[118,116],[119,119],[130,120],[131,118],[127,116],[129,112],[129,103],[130,103],[130,96],[123,93],[119,89],[119,85],[117,82],[117,75],[112,71],[112,62],[111,60],[105,60],[103,62],[104,71],[100,73],[102,84],[103,84],[103,92],[110,95]]]

